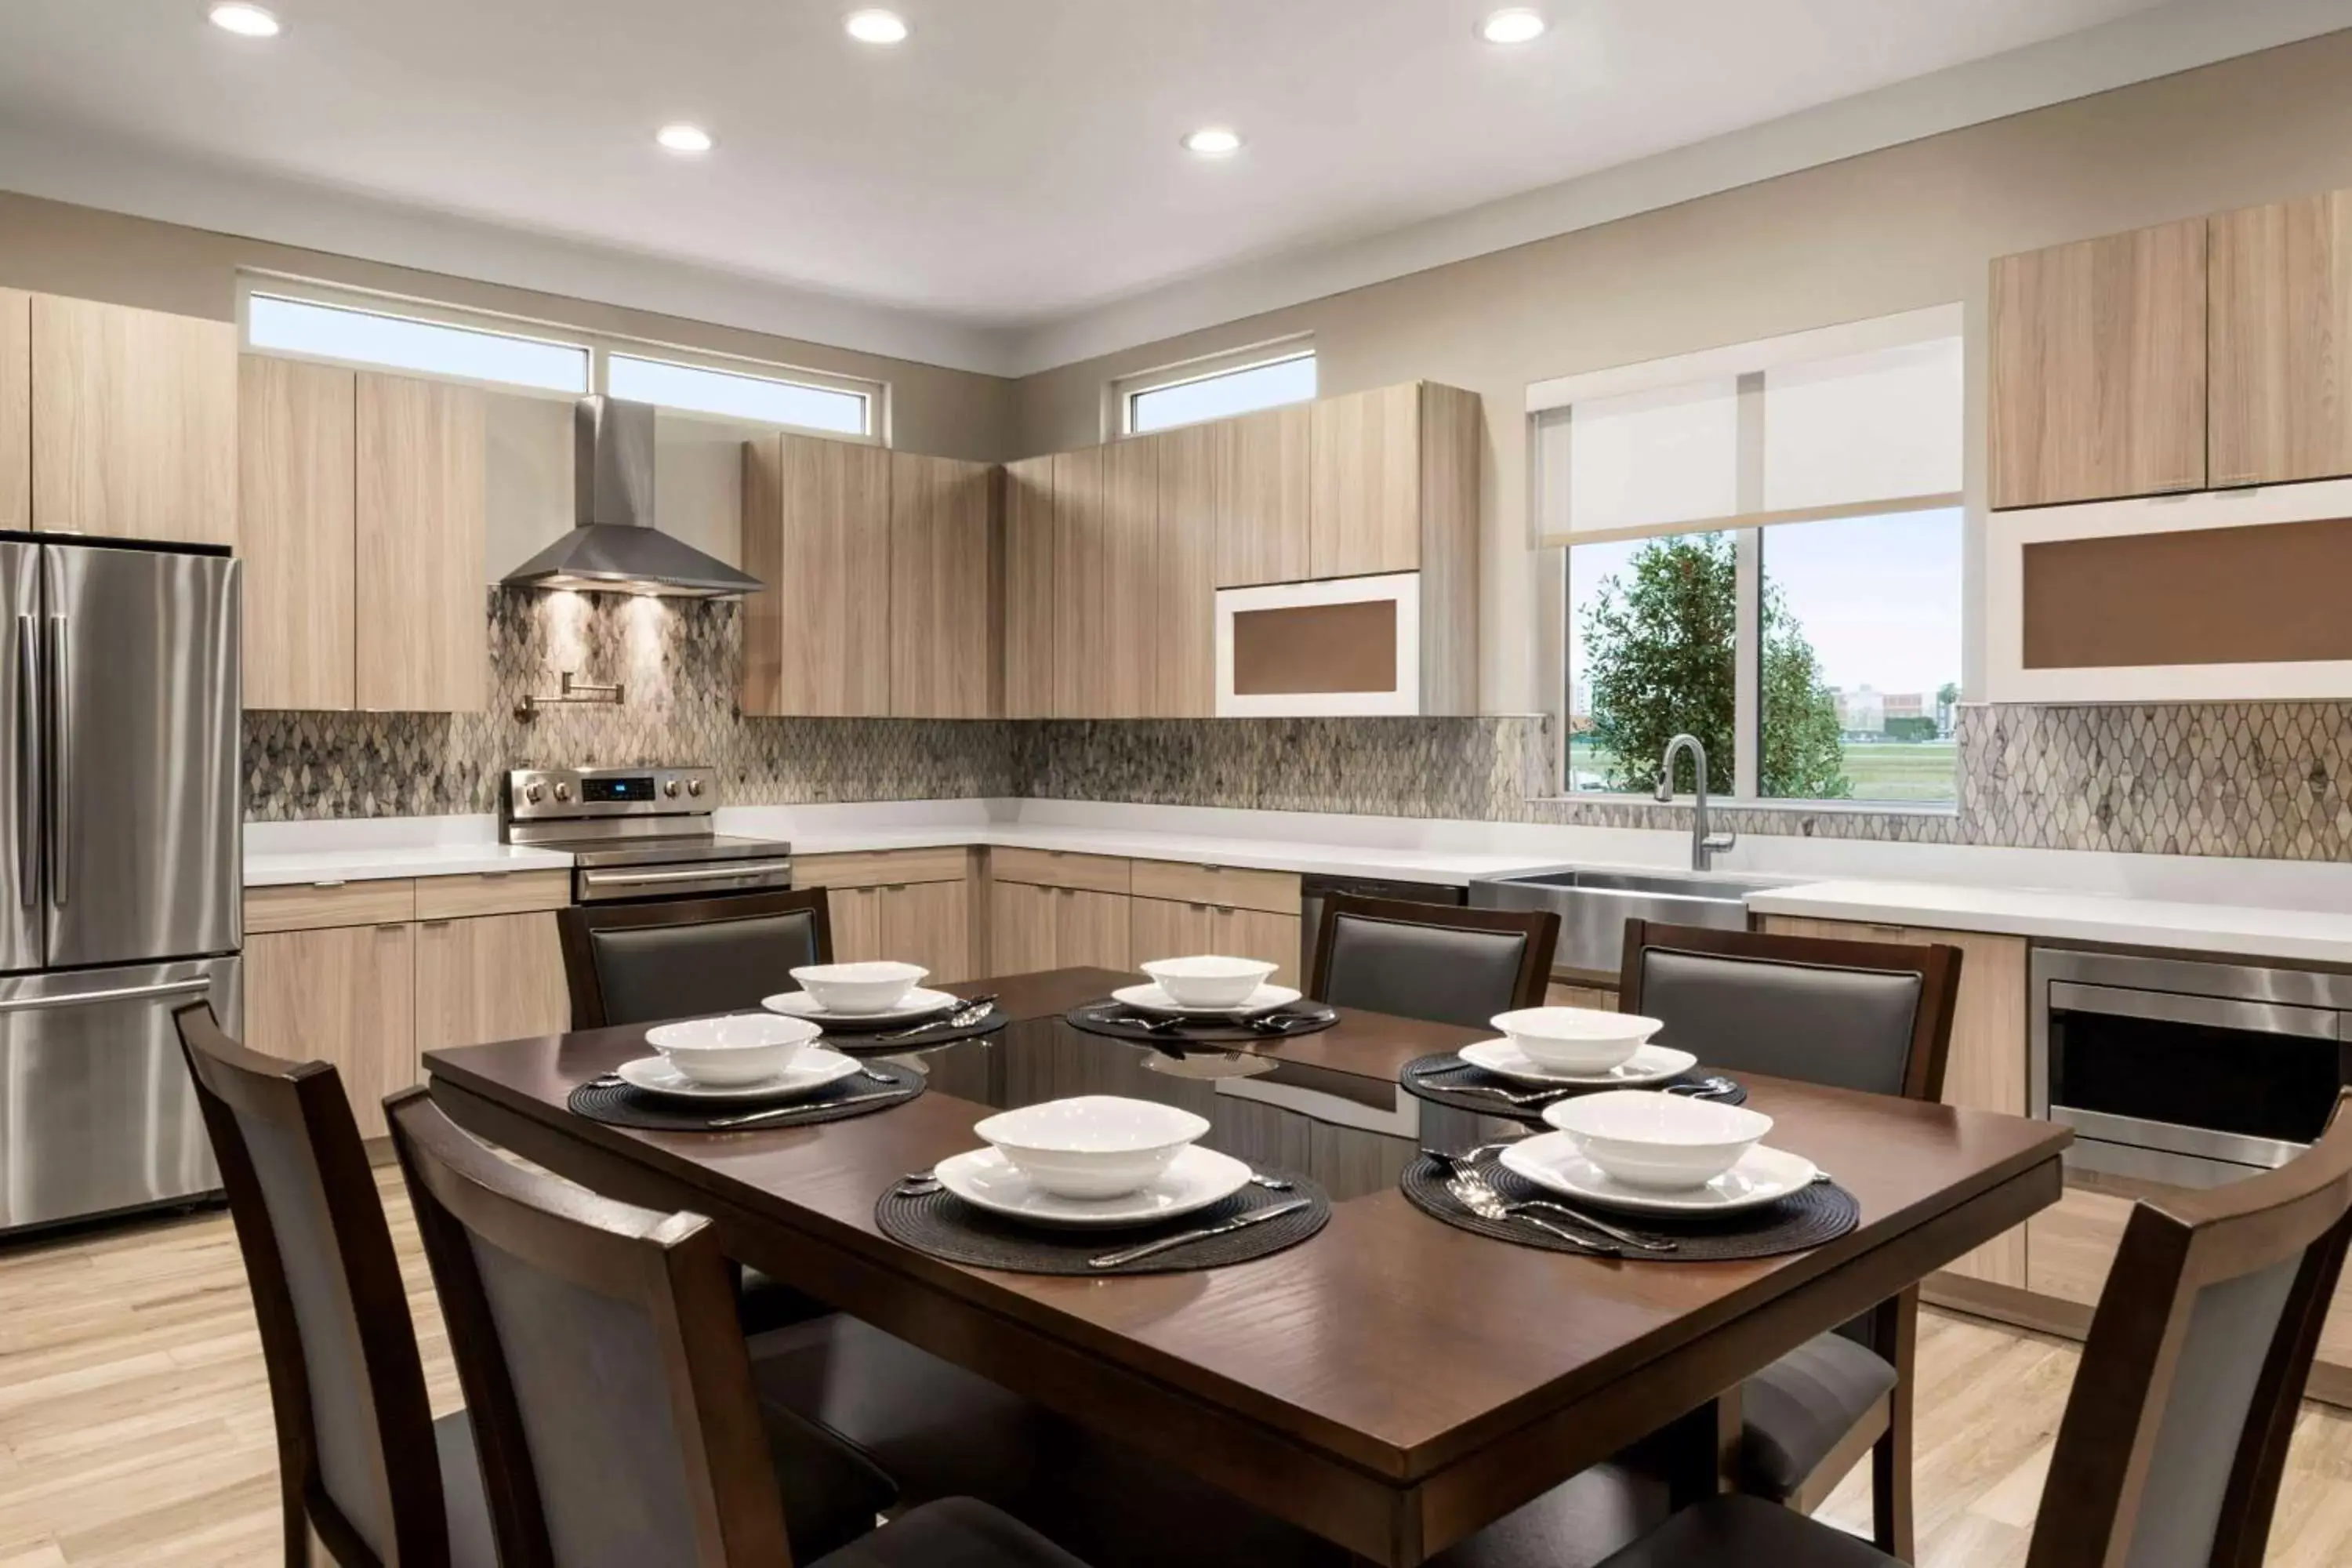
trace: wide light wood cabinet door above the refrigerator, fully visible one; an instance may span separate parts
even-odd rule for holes
[[[33,296],[33,527],[238,543],[238,329]]]

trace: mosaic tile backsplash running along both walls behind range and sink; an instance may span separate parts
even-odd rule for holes
[[[746,719],[741,607],[492,590],[489,708],[252,712],[247,816],[496,811],[508,766],[708,762],[736,804],[1042,797],[1606,827],[1689,809],[1543,799],[1550,722]],[[560,670],[621,705],[520,717]],[[1964,708],[1959,809],[1724,811],[1750,835],[2352,858],[2352,703]]]

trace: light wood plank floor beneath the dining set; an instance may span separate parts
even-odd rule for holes
[[[379,1185],[433,1410],[452,1410],[397,1173]],[[1919,1352],[1919,1563],[2023,1563],[2074,1347],[1931,1312]],[[1863,1528],[1867,1507],[1858,1472],[1825,1516]],[[261,1342],[226,1215],[0,1253],[0,1568],[282,1561]],[[2352,1563],[2352,1418],[2305,1406],[2270,1561]]]

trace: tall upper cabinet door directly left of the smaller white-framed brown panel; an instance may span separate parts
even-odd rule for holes
[[[1216,541],[1225,515],[1232,425],[1169,430],[1160,444],[1150,712],[1207,719],[1216,712]]]

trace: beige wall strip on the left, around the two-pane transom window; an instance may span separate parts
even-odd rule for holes
[[[355,289],[386,289],[590,331],[887,381],[894,447],[981,461],[1009,456],[1016,447],[1011,383],[997,376],[600,306],[560,294],[508,289],[445,273],[379,266],[0,190],[0,284],[5,287],[226,322],[235,320],[238,313],[238,268],[292,273]]]

